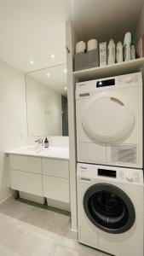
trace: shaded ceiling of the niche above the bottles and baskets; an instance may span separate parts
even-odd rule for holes
[[[73,0],[78,40],[123,41],[125,32],[135,33],[143,4],[143,0]]]

